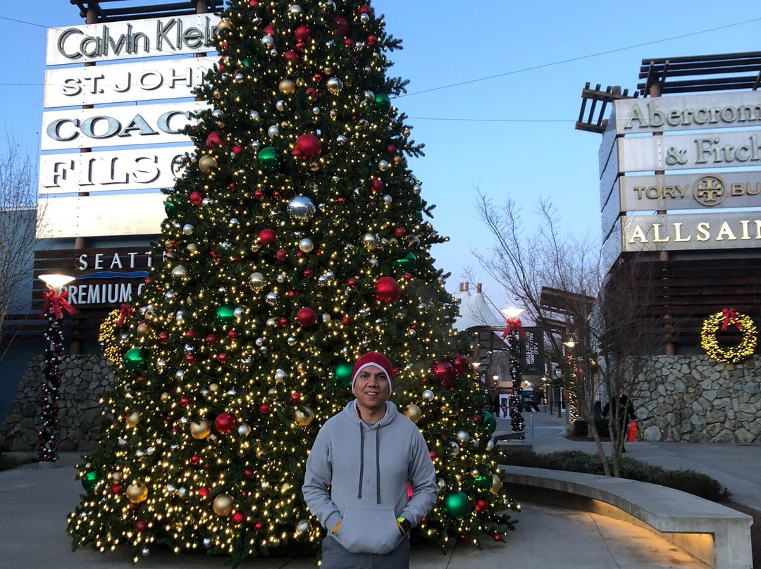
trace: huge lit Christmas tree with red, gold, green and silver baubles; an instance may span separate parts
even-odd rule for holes
[[[198,93],[209,110],[154,246],[166,261],[106,334],[116,379],[80,467],[75,547],[234,562],[315,549],[304,463],[371,350],[398,366],[391,399],[437,470],[416,531],[444,547],[501,539],[514,505],[495,419],[432,264],[445,239],[407,164],[422,145],[391,103],[406,85],[386,75],[400,41],[353,0],[233,0],[221,17]]]

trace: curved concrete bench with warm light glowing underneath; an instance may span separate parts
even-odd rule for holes
[[[626,520],[658,533],[710,567],[753,569],[753,518],[744,513],[647,482],[524,466],[500,468],[518,499]]]

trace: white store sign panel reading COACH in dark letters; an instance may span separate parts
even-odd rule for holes
[[[183,129],[195,122],[203,101],[43,113],[42,150],[99,148],[185,142]]]

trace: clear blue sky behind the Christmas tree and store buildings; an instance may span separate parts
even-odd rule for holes
[[[584,83],[634,91],[642,59],[761,50],[758,0],[372,5],[386,14],[387,31],[404,40],[405,49],[391,56],[391,73],[411,82],[395,104],[411,117],[412,138],[426,145],[412,170],[425,199],[438,205],[435,227],[451,237],[433,252],[437,266],[452,273],[451,292],[472,267],[500,307],[508,299],[472,255],[492,240],[479,222],[476,188],[497,202],[514,199],[529,227],[540,196],[549,198],[565,230],[598,239],[600,135],[574,129]],[[0,119],[33,152],[46,27],[82,23],[68,0],[0,6]]]

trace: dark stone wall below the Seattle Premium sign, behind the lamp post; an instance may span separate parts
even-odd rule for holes
[[[110,365],[99,355],[85,354],[66,356],[60,370],[63,376],[59,392],[58,450],[93,450],[100,424],[98,401],[113,383]],[[43,377],[40,355],[29,361],[11,412],[0,427],[0,449],[37,452]]]

